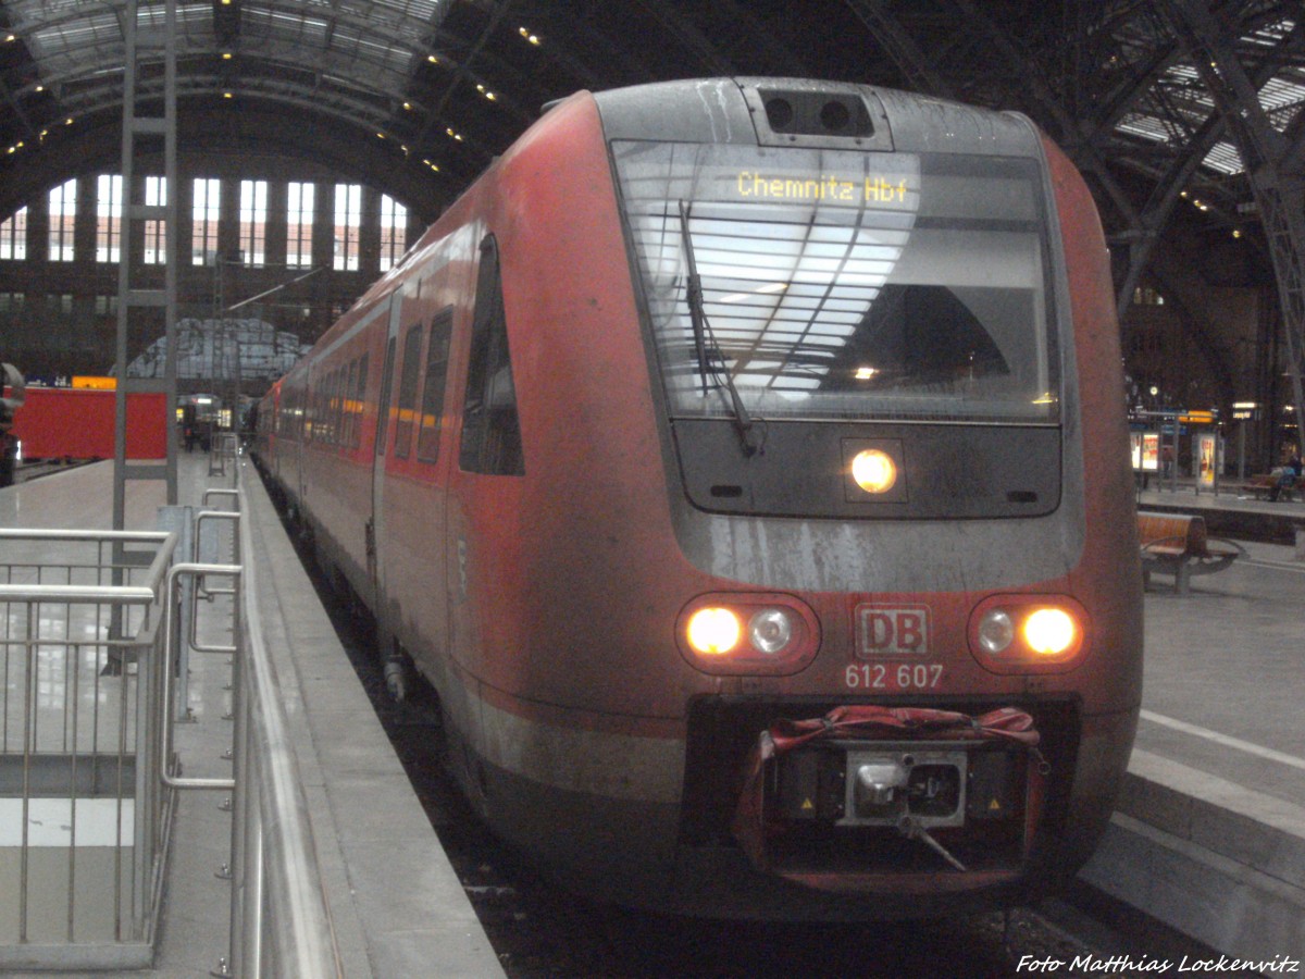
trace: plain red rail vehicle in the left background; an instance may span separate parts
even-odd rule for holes
[[[114,457],[114,398],[111,390],[27,388],[27,399],[14,415],[13,435],[25,459],[95,459]],[[167,456],[168,403],[163,393],[127,396],[127,457]]]

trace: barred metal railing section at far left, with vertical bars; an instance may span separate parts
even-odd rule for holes
[[[162,533],[0,530],[0,967],[149,965]]]

